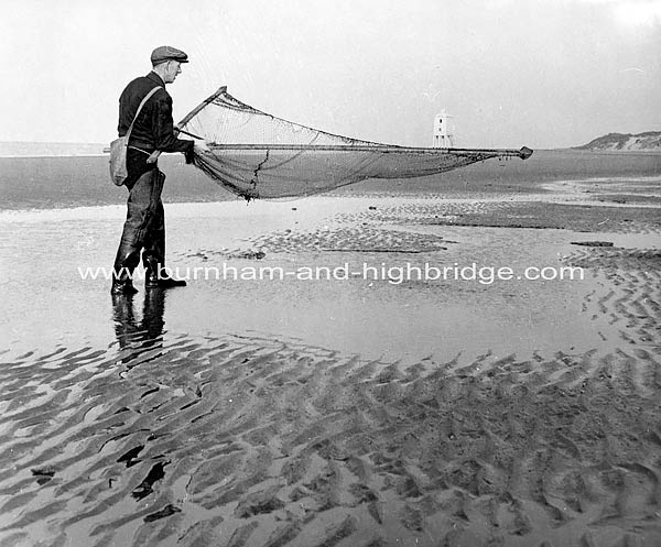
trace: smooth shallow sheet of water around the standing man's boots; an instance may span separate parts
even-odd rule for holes
[[[260,332],[387,361],[431,353],[443,359],[458,353],[473,359],[488,351],[530,354],[553,351],[561,342],[589,349],[600,341],[590,335],[589,322],[572,313],[589,281],[492,278],[499,267],[511,267],[517,275],[529,266],[556,267],[559,256],[571,252],[570,242],[586,239],[585,233],[438,226],[355,231],[353,222],[337,220],[328,201],[302,201],[296,211],[290,204],[261,210],[225,204],[217,206],[224,211],[219,216],[203,217],[202,210],[214,207],[175,208],[169,215],[170,267],[184,276],[197,269],[202,278],[166,295],[162,321],[167,330],[187,336]],[[358,199],[342,205],[349,212],[366,208]],[[322,211],[326,221],[319,221]],[[99,258],[112,255],[121,221],[26,216],[29,222],[14,217],[7,223],[0,240],[10,266],[2,275],[6,343],[29,349],[36,340],[43,344],[61,336],[108,342],[109,282],[82,281],[78,269],[107,266]],[[321,231],[295,239],[315,223]],[[289,227],[295,231],[288,233]],[[237,258],[241,249],[264,250],[267,256]],[[424,252],[412,254],[416,249]],[[235,278],[235,272],[267,266],[292,275]],[[322,275],[318,281],[294,275],[317,267],[346,267],[351,275]],[[431,269],[429,280],[421,278],[425,267]],[[447,280],[432,278],[437,276],[434,269],[444,267],[449,269]],[[229,275],[217,278],[224,269]],[[464,275],[455,278],[463,269]],[[409,280],[402,277],[407,271]],[[532,307],[531,295],[537,300]],[[141,291],[134,298],[138,308],[142,297]],[[559,300],[565,304],[559,306]]]

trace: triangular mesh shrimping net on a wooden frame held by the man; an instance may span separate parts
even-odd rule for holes
[[[411,178],[532,151],[424,149],[379,144],[318,131],[261,112],[221,87],[178,128],[210,143],[195,165],[245,197],[310,196],[366,178]]]

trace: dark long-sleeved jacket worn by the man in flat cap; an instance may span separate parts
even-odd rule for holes
[[[165,90],[165,84],[161,77],[154,72],[136,78],[122,91],[119,98],[119,124],[117,128],[119,136],[127,134],[140,102],[156,86],[160,86],[161,89],[152,95],[140,110],[129,138],[127,168],[131,178],[156,166],[155,163],[147,163],[149,154],[154,150],[183,152],[187,162],[193,155],[193,141],[177,139],[174,134],[172,97]]]

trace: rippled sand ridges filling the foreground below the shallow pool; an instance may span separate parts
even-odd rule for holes
[[[3,368],[14,545],[659,540],[658,353],[401,368],[259,338],[124,343]]]

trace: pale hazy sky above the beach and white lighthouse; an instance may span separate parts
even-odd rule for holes
[[[191,62],[175,121],[218,87],[280,118],[430,146],[574,146],[661,130],[661,0],[2,0],[0,141],[107,143],[159,45]]]

